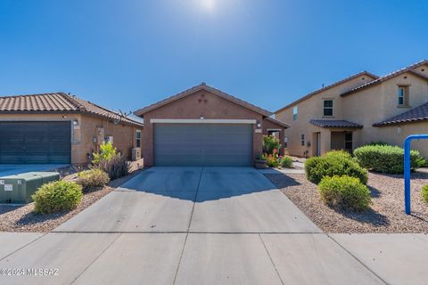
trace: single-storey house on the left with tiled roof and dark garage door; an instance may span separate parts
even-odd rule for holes
[[[143,124],[63,93],[0,97],[0,163],[86,164],[104,140],[126,157]]]

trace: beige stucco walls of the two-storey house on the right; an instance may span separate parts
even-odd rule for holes
[[[428,75],[428,66],[424,65],[416,69],[417,72]],[[309,124],[309,120],[314,119],[345,119],[364,126],[362,129],[353,132],[353,147],[356,148],[368,142],[384,141],[401,145],[401,138],[397,137],[397,126],[394,127],[374,127],[373,124],[381,122],[387,118],[397,116],[401,113],[416,108],[428,102],[428,82],[422,77],[418,77],[411,72],[404,73],[398,77],[392,77],[381,84],[375,84],[365,88],[358,93],[340,97],[345,90],[355,87],[361,83],[362,78],[356,78],[343,85],[333,87],[323,93],[317,94],[306,101],[298,103],[298,119],[292,121],[292,106],[276,114],[276,118],[291,125],[286,129],[284,135],[288,137],[289,148],[287,151],[292,155],[303,156],[304,151],[308,151],[309,156],[316,154],[315,132],[321,132],[322,153],[329,150],[331,145],[330,130],[322,129]],[[354,86],[352,86],[354,85]],[[399,107],[397,102],[398,86],[408,85],[409,106]],[[333,117],[325,118],[322,115],[323,99],[333,98]],[[415,125],[415,126],[411,126]],[[425,125],[426,126],[426,125]],[[393,130],[393,131],[391,131]],[[332,129],[331,131],[336,131]],[[346,131],[352,131],[346,130]],[[428,129],[416,124],[403,126],[401,136],[405,134],[427,133]],[[310,137],[314,142],[312,147],[300,145],[300,135]],[[424,142],[416,142],[413,147],[426,153],[421,147]]]

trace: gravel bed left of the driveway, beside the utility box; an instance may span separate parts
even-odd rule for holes
[[[78,205],[78,208],[69,212],[37,215],[33,211],[34,203],[24,206],[2,204],[0,205],[0,232],[50,232],[94,204],[97,200],[102,199],[105,195],[119,187],[119,185],[138,175],[141,171],[143,170],[136,170],[131,175],[111,181],[103,188],[84,193],[82,202]],[[76,174],[71,174],[65,176],[63,179],[70,181],[75,178]]]

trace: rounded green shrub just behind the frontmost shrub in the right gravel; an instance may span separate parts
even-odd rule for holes
[[[341,155],[328,155],[306,159],[305,172],[308,180],[319,183],[324,176],[349,175],[356,177],[363,184],[367,183],[367,171],[352,159]]]

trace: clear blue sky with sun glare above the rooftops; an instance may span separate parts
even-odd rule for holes
[[[428,58],[428,1],[0,0],[0,94],[137,110],[207,82],[268,110]]]

